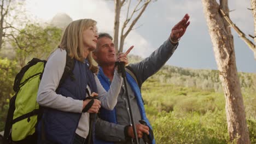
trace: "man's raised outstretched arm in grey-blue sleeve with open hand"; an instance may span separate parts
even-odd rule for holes
[[[149,76],[155,74],[168,59],[178,46],[178,41],[184,35],[189,26],[189,15],[186,14],[173,28],[170,37],[143,61],[129,66],[137,76],[139,83],[143,83]]]

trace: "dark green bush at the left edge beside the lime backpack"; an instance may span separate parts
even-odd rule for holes
[[[7,58],[0,58],[0,131],[4,128],[9,99],[14,95],[13,82],[17,71],[17,63]]]

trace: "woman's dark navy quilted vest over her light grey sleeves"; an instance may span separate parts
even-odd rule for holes
[[[85,61],[85,63],[74,61],[73,74],[75,80],[68,76],[56,93],[65,97],[84,100],[87,85],[90,86],[92,92],[97,93],[94,74],[89,70],[88,61]],[[43,117],[46,140],[53,143],[73,143],[81,113],[45,109]]]

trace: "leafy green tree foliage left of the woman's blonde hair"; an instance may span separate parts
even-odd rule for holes
[[[16,46],[16,59],[24,67],[33,57],[46,59],[56,49],[62,30],[57,27],[42,27],[37,24],[26,25],[13,41]]]

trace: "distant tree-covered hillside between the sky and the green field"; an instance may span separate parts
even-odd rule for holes
[[[130,63],[142,61],[143,58],[129,56]],[[242,92],[256,92],[256,74],[238,73]],[[188,69],[165,65],[158,73],[149,78],[160,83],[170,83],[177,86],[196,87],[207,91],[222,92],[218,70]]]

